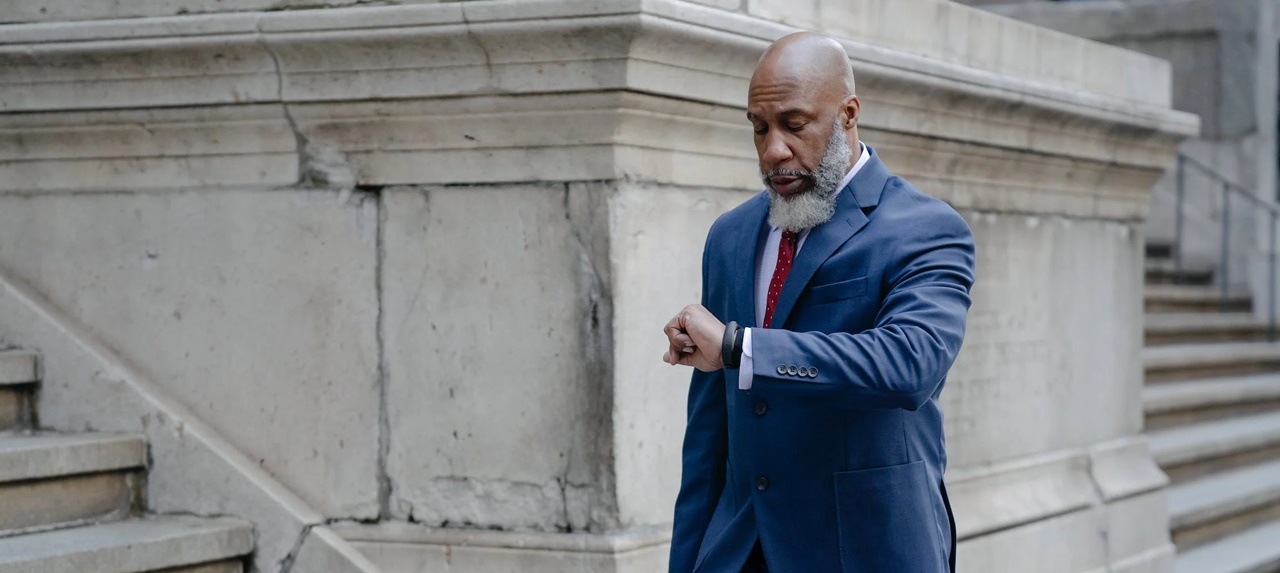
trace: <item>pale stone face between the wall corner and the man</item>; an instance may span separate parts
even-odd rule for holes
[[[662,327],[701,298],[701,238],[751,193],[620,187],[609,203],[618,513],[623,523],[663,523],[680,485],[690,370],[662,362]]]

